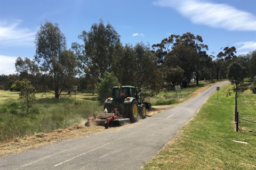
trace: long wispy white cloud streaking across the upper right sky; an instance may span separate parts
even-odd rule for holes
[[[155,1],[154,5],[171,7],[195,24],[205,24],[213,28],[231,31],[255,31],[256,16],[237,10],[227,4],[215,4],[208,1]]]

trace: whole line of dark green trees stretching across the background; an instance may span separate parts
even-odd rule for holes
[[[176,85],[186,88],[191,80],[198,84],[201,80],[229,78],[238,84],[256,75],[256,51],[236,56],[233,46],[208,55],[203,38],[190,32],[170,35],[152,46],[122,45],[114,27],[100,20],[89,31],[82,31],[78,39],[83,43],[72,43],[67,49],[58,23],[41,24],[34,59],[18,57],[17,74],[0,75],[0,89],[19,91],[19,82],[28,80],[36,91],[51,91],[55,98],[62,92],[70,93],[74,85],[94,95],[103,75],[111,73],[121,85],[139,87],[154,95]]]

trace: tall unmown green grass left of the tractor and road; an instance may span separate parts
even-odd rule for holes
[[[66,128],[82,122],[92,115],[98,115],[103,107],[89,94],[61,96],[36,94],[37,98],[29,113],[17,92],[0,91],[0,141],[10,141],[39,132]]]

